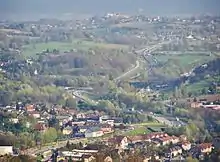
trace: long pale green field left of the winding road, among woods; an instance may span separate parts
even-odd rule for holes
[[[93,41],[86,41],[86,40],[75,40],[72,42],[48,42],[48,43],[37,43],[37,44],[30,44],[23,47],[22,54],[24,56],[33,56],[36,53],[40,53],[44,50],[53,50],[58,49],[60,51],[69,51],[71,49],[78,49],[78,50],[89,50],[89,49],[124,49],[127,50],[127,45],[121,44],[108,44],[108,43],[99,43]]]

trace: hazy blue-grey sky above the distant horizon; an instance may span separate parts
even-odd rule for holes
[[[219,13],[220,0],[0,0],[0,14],[102,14],[134,13],[142,8],[147,15]]]

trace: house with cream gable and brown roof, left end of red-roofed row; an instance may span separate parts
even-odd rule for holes
[[[118,149],[125,149],[128,146],[129,139],[125,136],[115,136],[108,140],[109,144],[116,145]]]

